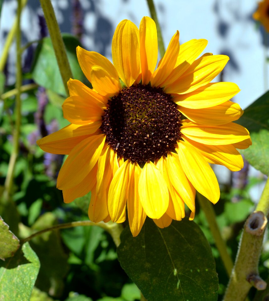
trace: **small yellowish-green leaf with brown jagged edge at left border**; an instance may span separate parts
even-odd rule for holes
[[[8,258],[14,255],[18,250],[20,243],[18,238],[9,231],[9,226],[0,216],[0,259]]]

